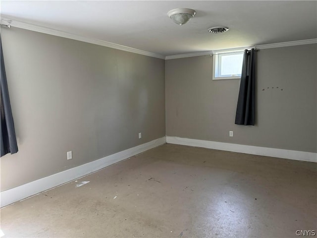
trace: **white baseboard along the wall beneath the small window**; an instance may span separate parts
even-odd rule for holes
[[[166,143],[317,163],[317,153],[166,136]]]

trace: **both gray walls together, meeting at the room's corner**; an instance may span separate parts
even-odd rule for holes
[[[0,159],[1,191],[162,137],[165,112],[169,136],[317,152],[316,44],[258,52],[257,124],[241,126],[239,80],[212,81],[209,56],[164,63],[18,28],[1,39],[19,146]]]

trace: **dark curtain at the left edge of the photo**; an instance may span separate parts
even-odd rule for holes
[[[2,43],[0,38],[0,48],[1,48],[1,155],[3,156],[7,153],[14,154],[18,152],[18,146],[16,143],[14,123],[11,113],[8,85],[6,82],[5,68],[2,53]]]

